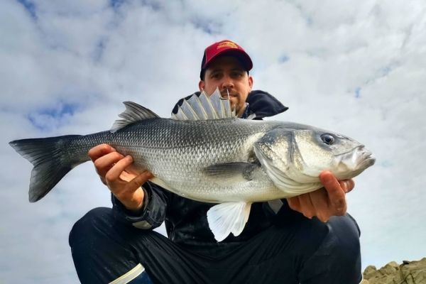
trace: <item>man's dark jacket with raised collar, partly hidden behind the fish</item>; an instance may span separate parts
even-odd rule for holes
[[[197,95],[200,92],[195,93]],[[188,99],[190,96],[185,97]],[[184,99],[175,105],[173,113],[178,111]],[[263,119],[286,111],[275,97],[267,92],[252,91],[247,97],[248,106],[242,118]],[[112,197],[114,214],[123,222],[128,222],[140,229],[153,229],[165,222],[168,237],[175,242],[185,244],[216,243],[207,223],[207,211],[212,203],[198,202],[175,195],[162,187],[146,182],[146,191],[141,212],[133,213]],[[244,231],[239,236],[228,236],[224,242],[244,241],[259,231],[271,226],[271,218],[275,213],[268,202],[257,202],[251,205],[251,213]]]

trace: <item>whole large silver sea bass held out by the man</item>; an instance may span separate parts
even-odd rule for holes
[[[373,165],[364,145],[312,126],[237,119],[217,90],[192,96],[172,119],[125,102],[111,131],[11,141],[33,163],[29,200],[44,197],[87,152],[108,143],[132,155],[151,181],[182,197],[219,203],[207,219],[217,241],[241,234],[252,202],[293,197],[322,187],[318,176],[330,170],[354,178]]]

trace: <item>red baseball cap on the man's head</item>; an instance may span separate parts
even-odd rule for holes
[[[201,62],[201,72],[200,78],[203,80],[204,72],[207,69],[208,65],[214,58],[217,58],[219,55],[229,55],[234,56],[239,59],[243,67],[250,71],[253,68],[253,62],[251,62],[250,56],[241,48],[240,45],[234,43],[231,40],[221,40],[217,43],[207,46],[204,50],[204,56],[202,57]]]

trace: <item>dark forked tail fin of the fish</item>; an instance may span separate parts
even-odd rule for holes
[[[30,202],[43,198],[72,168],[85,160],[67,155],[70,141],[80,135],[67,135],[50,138],[22,139],[9,142],[16,152],[33,165],[31,172]],[[87,157],[87,160],[89,158]]]

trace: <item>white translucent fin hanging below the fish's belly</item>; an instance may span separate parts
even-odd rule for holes
[[[250,209],[250,202],[226,202],[210,208],[207,221],[214,239],[223,241],[231,233],[239,236],[249,219]]]

